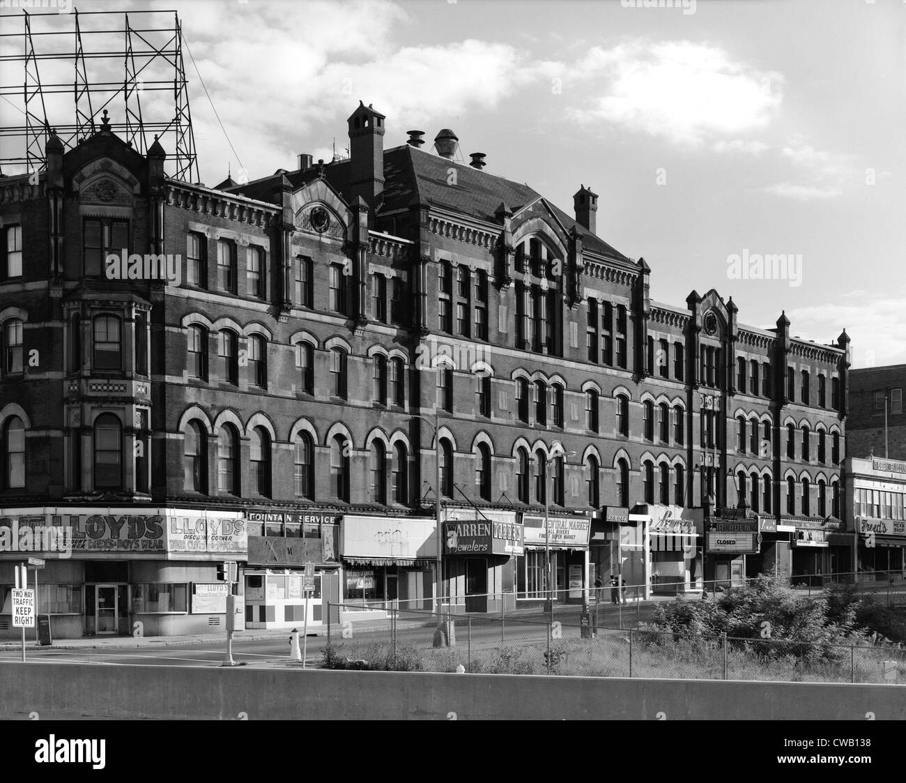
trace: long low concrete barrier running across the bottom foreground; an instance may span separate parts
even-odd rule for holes
[[[0,664],[0,719],[906,720],[906,685]]]

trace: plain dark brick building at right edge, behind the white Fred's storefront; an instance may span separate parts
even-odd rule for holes
[[[850,372],[852,408],[846,420],[849,453],[853,457],[873,454],[906,459],[906,412],[903,411],[906,364],[861,367]]]

